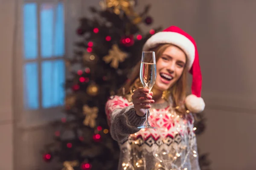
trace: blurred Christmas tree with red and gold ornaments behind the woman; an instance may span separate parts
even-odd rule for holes
[[[52,123],[54,142],[43,150],[44,161],[58,162],[56,170],[116,170],[119,147],[109,133],[105,103],[127,81],[145,41],[161,30],[150,28],[149,5],[141,13],[134,11],[134,0],[100,5],[101,10],[90,8],[92,18],[80,19],[81,41],[66,59],[66,117]]]

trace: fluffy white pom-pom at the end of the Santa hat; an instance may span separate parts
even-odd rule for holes
[[[186,96],[185,99],[186,107],[192,113],[200,113],[204,111],[205,103],[201,97],[197,97],[194,94]]]

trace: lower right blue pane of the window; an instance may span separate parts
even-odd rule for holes
[[[42,62],[42,107],[49,108],[64,104],[63,60]]]

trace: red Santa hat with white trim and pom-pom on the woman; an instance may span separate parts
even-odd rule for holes
[[[192,94],[186,96],[185,105],[193,113],[204,111],[205,103],[201,98],[202,75],[199,65],[198,50],[195,40],[177,26],[170,26],[152,35],[144,44],[143,51],[148,51],[159,44],[170,43],[180,47],[187,56],[187,66],[192,74]]]

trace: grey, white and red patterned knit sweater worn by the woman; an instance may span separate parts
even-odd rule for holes
[[[148,122],[132,102],[111,96],[105,108],[111,136],[119,143],[118,170],[200,170],[192,113],[176,114],[168,102],[151,104]]]

